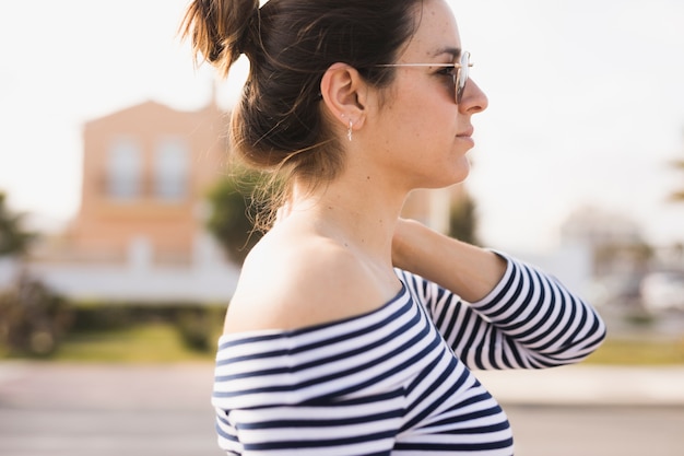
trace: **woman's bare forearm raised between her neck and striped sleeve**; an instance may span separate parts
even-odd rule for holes
[[[399,219],[392,238],[394,267],[413,272],[476,302],[506,271],[506,260],[486,250],[406,219]]]

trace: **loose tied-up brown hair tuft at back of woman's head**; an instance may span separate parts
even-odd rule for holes
[[[194,0],[180,24],[196,60],[205,60],[225,77],[258,34],[259,0]],[[200,57],[201,56],[201,57]]]

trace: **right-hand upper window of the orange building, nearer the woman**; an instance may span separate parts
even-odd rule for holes
[[[180,138],[161,139],[154,151],[154,196],[177,201],[188,191],[188,147]]]

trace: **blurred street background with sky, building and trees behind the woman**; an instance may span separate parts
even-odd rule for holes
[[[652,440],[680,454],[684,3],[451,3],[490,107],[468,180],[416,191],[405,215],[545,268],[609,324],[579,371],[483,373],[520,454],[613,454],[601,443],[625,430],[614,454]],[[212,358],[258,238],[258,176],[236,184],[226,166],[248,63],[224,81],[193,66],[177,35],[187,4],[0,0],[4,455],[216,454]],[[169,434],[173,448],[151,443]]]

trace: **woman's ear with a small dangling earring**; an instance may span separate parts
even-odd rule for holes
[[[320,81],[323,103],[332,116],[344,129],[358,129],[366,116],[367,84],[354,67],[346,63],[333,63]]]

